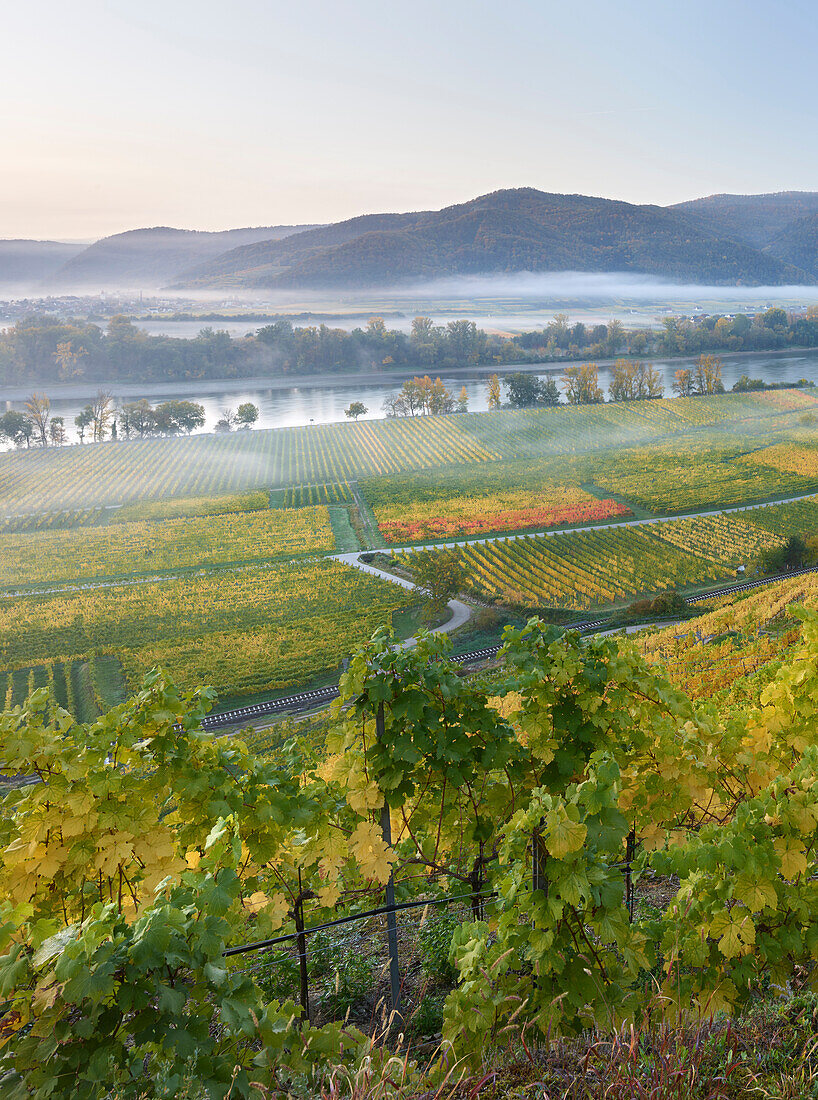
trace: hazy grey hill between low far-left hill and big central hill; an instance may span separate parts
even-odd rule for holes
[[[166,226],[133,229],[90,244],[68,258],[48,282],[60,289],[159,287],[176,278],[187,267],[236,245],[278,240],[306,228],[310,227],[266,226],[231,229],[220,233],[170,229]]]

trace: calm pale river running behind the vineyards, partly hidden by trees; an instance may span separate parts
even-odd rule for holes
[[[763,378],[765,382],[797,382],[807,378],[818,384],[818,349],[809,351],[748,353],[721,355],[722,378],[729,389],[742,375]],[[664,377],[665,393],[672,395],[673,374],[693,360],[654,360]],[[482,413],[487,408],[486,380],[493,373],[493,367],[466,367],[443,374],[443,381],[454,392],[460,394],[465,386],[468,395],[468,408],[473,413]],[[541,377],[549,375],[560,378],[563,365],[515,366],[506,365],[497,373],[504,374],[515,370],[524,370]],[[407,372],[408,373],[408,372]],[[378,419],[385,416],[384,399],[397,393],[402,382],[402,375],[363,374],[346,376],[301,376],[298,378],[243,380],[243,381],[209,381],[192,384],[167,383],[136,386],[111,383],[103,388],[110,389],[118,400],[136,400],[146,397],[152,404],[170,398],[185,398],[199,402],[204,407],[206,424],[202,430],[212,431],[224,408],[235,409],[243,402],[252,402],[259,409],[256,427],[284,428],[295,425],[327,424],[344,419],[344,409],[351,402],[363,402],[367,407],[365,419]],[[610,381],[610,365],[599,365],[599,381],[607,393]],[[74,417],[86,405],[96,391],[96,384],[49,387],[52,415],[65,418],[69,439],[76,439]],[[0,393],[0,410],[5,408],[22,409],[25,399],[23,391],[7,391]]]

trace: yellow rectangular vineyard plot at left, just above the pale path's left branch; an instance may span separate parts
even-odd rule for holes
[[[325,506],[0,536],[0,586],[330,553]]]

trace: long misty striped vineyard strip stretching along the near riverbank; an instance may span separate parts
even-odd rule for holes
[[[0,512],[334,485],[408,470],[583,454],[690,432],[749,438],[795,428],[815,405],[798,391],[727,394],[4,452]]]

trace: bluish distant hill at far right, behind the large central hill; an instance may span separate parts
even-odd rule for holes
[[[708,195],[667,207],[699,229],[760,249],[770,244],[796,219],[818,213],[818,191],[777,191],[771,195]],[[777,253],[775,253],[777,255]],[[795,263],[788,256],[788,263]]]

